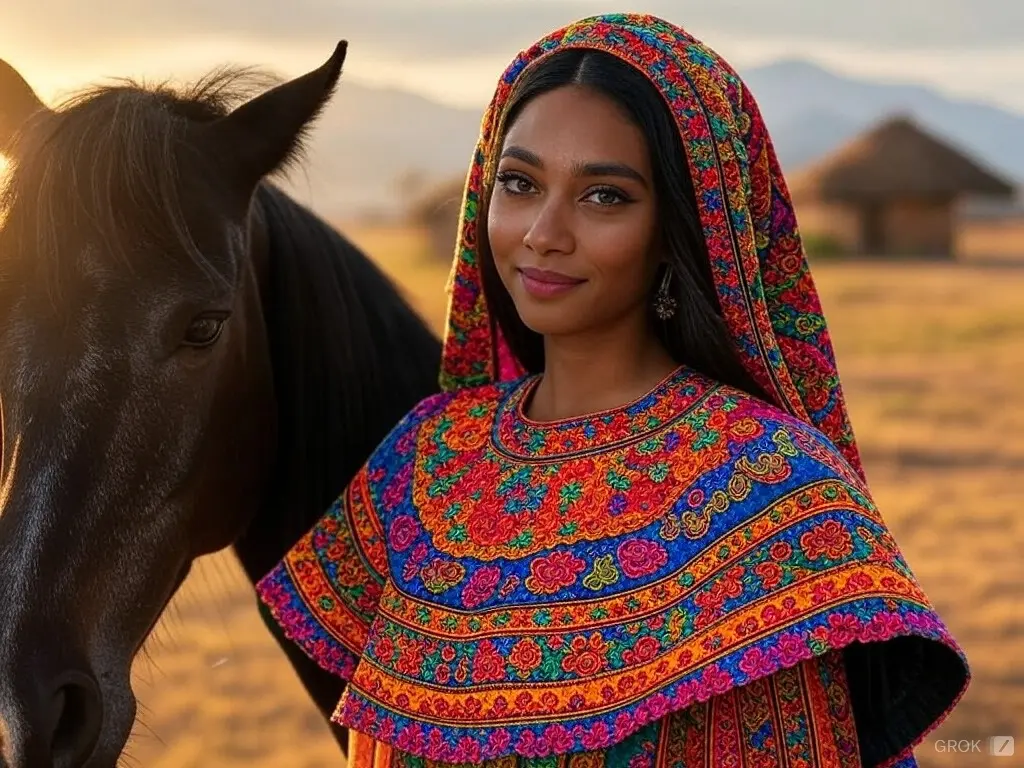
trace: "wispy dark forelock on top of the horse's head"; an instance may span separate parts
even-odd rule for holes
[[[123,78],[71,94],[30,118],[15,139],[0,185],[4,229],[38,244],[36,266],[48,272],[51,294],[57,290],[53,260],[60,225],[103,238],[98,245],[125,267],[141,234],[162,246],[153,250],[185,254],[220,279],[189,236],[176,153],[189,124],[222,117],[276,82],[256,69],[221,68],[177,87]],[[130,221],[122,214],[128,209]],[[134,241],[123,237],[129,228]]]

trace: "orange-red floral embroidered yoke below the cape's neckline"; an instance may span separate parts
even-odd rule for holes
[[[636,532],[654,520],[665,540],[697,540],[755,483],[790,479],[786,456],[798,449],[786,431],[765,433],[759,413],[737,413],[743,395],[685,368],[636,403],[546,430],[522,413],[535,385],[536,379],[526,379],[506,386],[504,397],[496,397],[496,389],[466,390],[425,420],[417,443],[421,461],[411,477],[431,546],[479,560],[520,558],[556,543]],[[455,424],[460,444],[470,432],[478,435],[472,447],[459,451],[449,440]],[[695,484],[709,473],[727,478],[723,487],[706,492]],[[484,498],[483,488],[494,490]],[[399,552],[408,546],[402,534]],[[632,542],[602,560],[608,564],[588,584],[654,572],[667,562],[662,549],[649,540]],[[560,555],[551,557],[561,562]],[[546,594],[546,580],[554,578],[546,574],[554,566],[545,561],[537,567],[529,582],[537,589],[527,589]]]

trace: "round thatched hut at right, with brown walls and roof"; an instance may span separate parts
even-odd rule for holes
[[[809,243],[872,256],[954,256],[955,211],[1013,185],[898,116],[793,174],[790,191]],[[809,249],[812,250],[812,249]]]

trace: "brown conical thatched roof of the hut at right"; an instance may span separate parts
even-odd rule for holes
[[[886,120],[838,151],[794,173],[796,198],[885,200],[901,196],[1009,197],[1014,186],[909,118]]]

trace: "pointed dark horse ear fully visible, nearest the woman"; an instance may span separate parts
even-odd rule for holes
[[[298,154],[306,131],[334,92],[347,50],[348,42],[342,40],[317,69],[246,101],[200,129],[204,150],[247,194]]]

